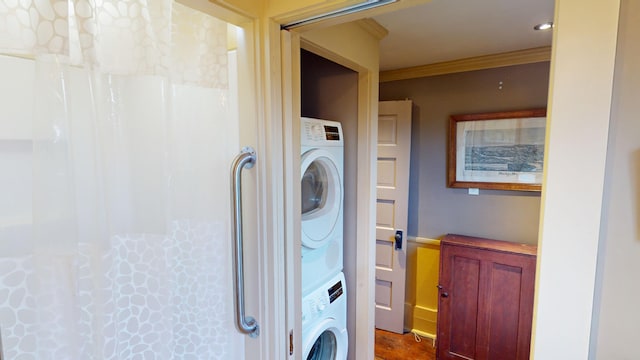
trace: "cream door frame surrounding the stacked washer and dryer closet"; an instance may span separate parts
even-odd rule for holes
[[[360,23],[360,22],[359,22]],[[366,22],[365,22],[366,23]],[[372,39],[376,36],[367,30],[366,27],[356,24],[344,24],[349,29],[361,31],[358,36],[369,36]],[[289,233],[288,244],[293,244],[293,249],[287,250],[287,267],[292,271],[287,271],[289,278],[287,284],[291,296],[287,296],[291,304],[300,306],[300,159],[295,156],[299,153],[300,148],[300,127],[297,119],[301,116],[301,90],[300,90],[300,50],[305,49],[319,56],[331,60],[339,65],[345,66],[358,74],[358,119],[357,128],[357,163],[358,189],[356,197],[356,247],[358,256],[355,264],[347,265],[347,257],[345,256],[345,266],[351,266],[355,273],[355,281],[347,280],[347,293],[349,302],[358,302],[359,305],[353,307],[356,309],[355,324],[349,329],[349,343],[352,353],[350,358],[354,359],[372,359],[374,357],[374,318],[375,307],[372,302],[375,296],[375,246],[370,239],[375,236],[375,155],[377,139],[377,122],[371,119],[377,118],[378,104],[378,59],[377,56],[367,57],[374,49],[375,54],[378,51],[378,42],[365,42],[363,46],[366,51],[358,51],[354,49],[352,43],[348,39],[344,42],[335,42],[335,31],[340,31],[340,25],[336,28],[314,28],[313,31],[282,31],[282,48],[283,48],[283,109],[284,123],[283,133],[285,133],[286,146],[290,146],[285,154],[286,172],[285,183],[291,184],[286,186],[285,198],[291,199],[287,201],[287,209],[292,209],[292,213],[286,215],[287,231]],[[323,31],[323,30],[326,30]],[[344,30],[344,29],[343,29]],[[344,37],[344,36],[343,36]],[[348,37],[347,37],[348,38]],[[361,49],[360,49],[361,50]],[[289,58],[289,59],[287,59]],[[291,109],[291,112],[289,112]],[[373,156],[372,156],[373,155]],[[291,158],[289,158],[291,156]],[[345,254],[346,255],[346,254]],[[358,285],[356,286],[357,283]],[[291,307],[294,308],[294,307]],[[292,315],[289,323],[293,324],[292,329],[295,334],[301,334],[300,315]],[[291,314],[290,314],[291,315]],[[294,354],[297,358],[302,356],[300,341],[294,337]],[[358,347],[353,346],[359,344]],[[366,345],[363,345],[366,344]],[[296,350],[299,349],[299,350]]]

